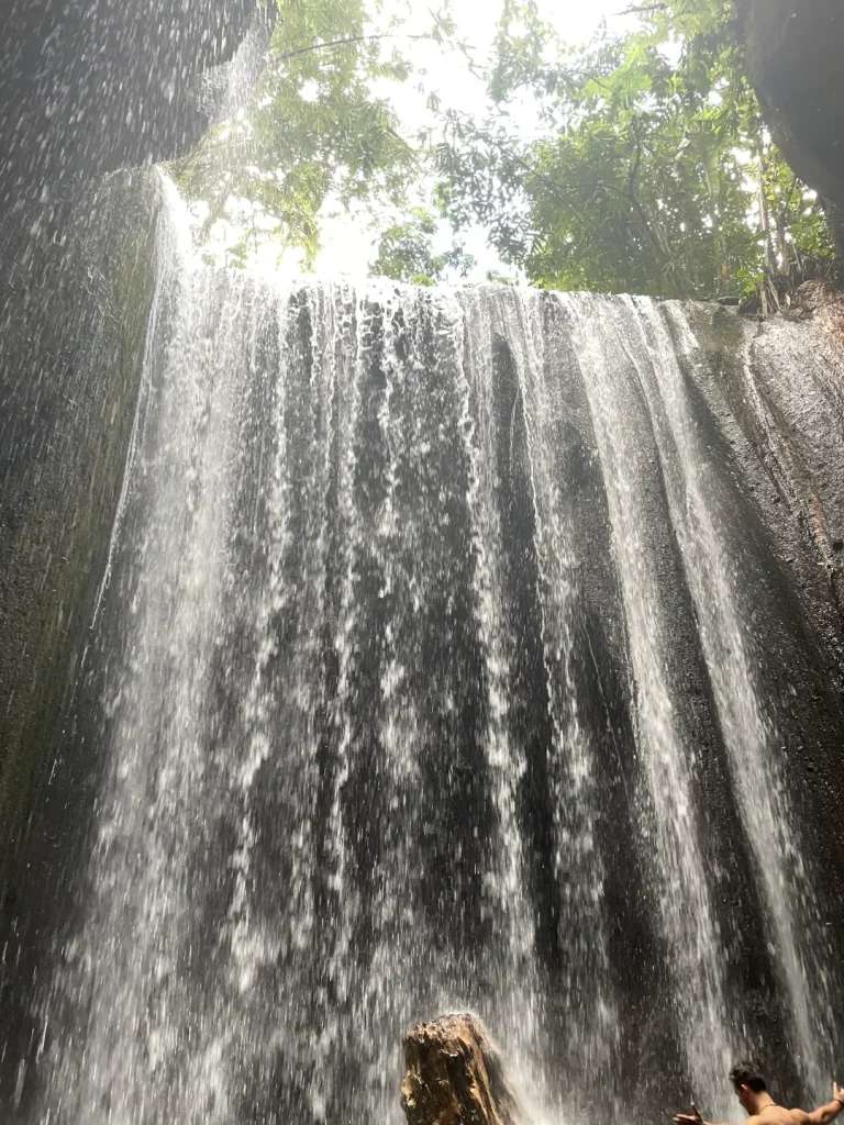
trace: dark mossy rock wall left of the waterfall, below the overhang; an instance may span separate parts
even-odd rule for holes
[[[90,811],[83,669],[138,400],[156,191],[149,174],[113,179],[59,241],[36,227],[0,282],[0,944],[18,962],[0,997],[24,1037]]]

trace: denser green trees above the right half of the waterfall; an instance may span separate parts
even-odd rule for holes
[[[504,260],[549,288],[712,297],[828,258],[823,213],[765,134],[731,20],[730,0],[668,0],[635,33],[574,52],[532,0],[508,0],[494,112],[447,119],[448,214],[486,224]],[[512,125],[526,101],[540,126],[527,142]]]

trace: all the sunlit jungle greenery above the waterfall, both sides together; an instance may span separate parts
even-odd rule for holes
[[[504,0],[483,66],[448,9],[432,14],[424,37],[479,76],[487,110],[431,97],[432,124],[408,135],[390,83],[423,79],[401,19],[366,0],[277,0],[251,110],[212,130],[182,184],[208,224],[245,201],[252,237],[258,223],[306,261],[326,199],[380,208],[374,268],[422,284],[467,272],[460,232],[478,225],[545,288],[712,298],[829,269],[821,204],[765,129],[731,0],[641,4],[634,30],[575,48],[535,0]]]

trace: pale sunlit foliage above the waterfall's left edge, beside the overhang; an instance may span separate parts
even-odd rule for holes
[[[363,0],[277,0],[269,65],[246,114],[212,129],[177,168],[182,190],[208,206],[206,227],[235,215],[250,231],[233,248],[275,233],[313,260],[327,198],[349,206],[397,200],[415,155],[377,80],[402,81],[407,64],[384,53]]]

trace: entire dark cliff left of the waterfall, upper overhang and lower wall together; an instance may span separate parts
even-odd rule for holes
[[[84,652],[150,308],[153,180],[95,186],[196,143],[201,75],[233,56],[257,11],[255,0],[11,0],[6,14],[0,883]]]

